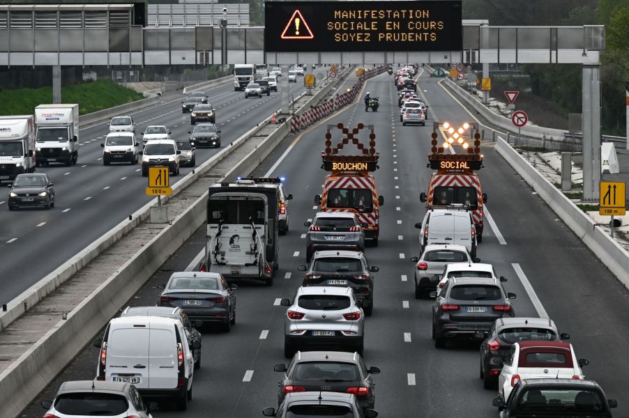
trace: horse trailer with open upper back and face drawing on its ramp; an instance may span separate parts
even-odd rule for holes
[[[205,270],[273,284],[279,268],[279,185],[250,180],[209,188]],[[203,270],[203,269],[202,269]]]

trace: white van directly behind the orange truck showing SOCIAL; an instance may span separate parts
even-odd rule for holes
[[[476,257],[476,229],[470,212],[456,208],[434,208],[426,211],[420,229],[420,247],[434,244],[462,245]]]

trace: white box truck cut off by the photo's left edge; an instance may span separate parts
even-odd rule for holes
[[[33,116],[0,116],[0,181],[35,171]]]

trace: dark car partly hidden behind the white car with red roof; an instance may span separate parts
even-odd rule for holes
[[[570,339],[570,334],[559,334],[553,320],[543,318],[497,319],[489,332],[481,332],[480,378],[485,389],[498,384],[502,364],[511,346],[519,341],[558,341]]]

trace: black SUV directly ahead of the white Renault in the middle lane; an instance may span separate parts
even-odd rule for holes
[[[363,311],[370,316],[374,309],[374,277],[380,269],[370,266],[359,251],[317,251],[310,265],[299,265],[306,272],[302,286],[351,287],[357,300],[363,301]]]

